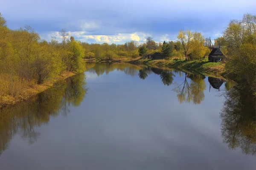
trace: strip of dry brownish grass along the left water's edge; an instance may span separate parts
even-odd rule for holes
[[[49,88],[55,88],[55,84],[59,81],[62,81],[64,79],[67,79],[68,77],[74,76],[77,73],[75,72],[70,72],[70,71],[64,71],[63,74],[61,74],[58,77],[55,77],[53,79],[45,81],[43,84],[38,85],[38,84],[27,84],[23,89],[22,89],[22,94],[19,96],[11,96],[11,95],[3,95],[0,96],[0,109],[9,105],[15,105],[18,102],[24,101],[29,99],[30,97],[41,93],[43,91],[46,91]]]

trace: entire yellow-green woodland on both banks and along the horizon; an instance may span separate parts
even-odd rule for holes
[[[145,43],[125,44],[88,44],[70,37],[65,29],[60,33],[61,42],[56,37],[47,42],[30,26],[9,29],[0,14],[0,105],[3,101],[22,98],[26,88],[32,85],[43,84],[65,72],[84,71],[83,58],[140,59],[160,52],[167,60],[188,58],[200,62],[210,53],[209,38],[190,30],[180,30],[175,42],[155,42],[147,37]],[[255,94],[256,16],[244,14],[242,20],[231,20],[214,45],[222,46],[221,51],[227,57],[224,63],[227,72]]]

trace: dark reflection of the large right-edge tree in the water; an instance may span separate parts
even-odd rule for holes
[[[227,84],[227,85],[226,85]],[[248,93],[238,85],[230,88],[230,82],[225,87],[223,109],[221,111],[221,133],[223,142],[230,149],[240,147],[245,154],[256,154],[256,96]]]

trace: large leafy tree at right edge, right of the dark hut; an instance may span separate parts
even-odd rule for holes
[[[244,14],[242,20],[231,20],[223,36],[229,51],[225,68],[255,93],[256,15]]]

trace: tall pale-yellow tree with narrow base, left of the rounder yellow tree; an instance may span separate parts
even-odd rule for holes
[[[180,30],[180,32],[177,35],[178,41],[180,41],[183,51],[185,53],[185,57],[187,56],[187,52],[189,48],[191,47],[191,41],[193,38],[193,33],[190,30],[183,31]]]

